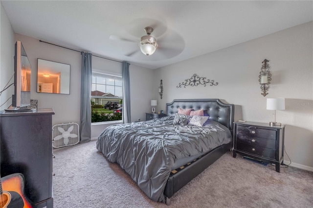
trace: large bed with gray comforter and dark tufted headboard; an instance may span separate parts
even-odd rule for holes
[[[208,118],[199,126],[203,116],[179,123],[183,109],[203,109]],[[166,104],[164,117],[106,128],[96,147],[149,198],[169,205],[174,193],[232,148],[233,120],[234,105],[219,99],[173,100]]]

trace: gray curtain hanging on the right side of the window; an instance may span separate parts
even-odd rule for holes
[[[131,91],[129,81],[129,63],[123,61],[123,122],[131,122]]]

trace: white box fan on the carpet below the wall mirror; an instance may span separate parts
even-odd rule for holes
[[[52,127],[52,146],[65,147],[79,142],[79,126],[77,123],[62,123]]]

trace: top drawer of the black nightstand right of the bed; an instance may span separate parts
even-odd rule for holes
[[[255,126],[237,126],[237,137],[258,137],[265,139],[276,139],[276,131],[257,128]]]

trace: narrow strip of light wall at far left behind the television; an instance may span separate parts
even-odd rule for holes
[[[6,84],[13,83],[14,77],[9,82],[10,78],[14,74],[14,32],[11,23],[6,15],[5,10],[0,2],[0,91],[2,91]],[[14,86],[12,85],[0,95],[0,105],[4,104],[5,101],[14,94]],[[12,104],[10,98],[0,110],[8,108]]]

